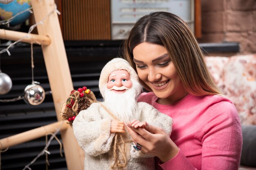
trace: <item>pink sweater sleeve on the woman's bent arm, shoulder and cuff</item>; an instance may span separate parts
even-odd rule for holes
[[[225,108],[225,109],[224,109]],[[202,137],[202,170],[232,169],[239,167],[242,150],[242,132],[238,114],[230,102],[217,103],[206,111],[209,120]],[[173,159],[159,163],[164,170],[193,170],[192,164],[180,150]]]

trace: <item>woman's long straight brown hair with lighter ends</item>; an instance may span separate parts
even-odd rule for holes
[[[168,12],[153,12],[137,20],[120,51],[120,56],[136,71],[132,50],[143,42],[166,48],[186,92],[196,96],[220,94],[195,36],[180,17]],[[151,91],[143,81],[140,82]]]

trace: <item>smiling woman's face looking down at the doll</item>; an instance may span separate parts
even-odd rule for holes
[[[139,78],[155,93],[160,104],[171,104],[186,92],[164,46],[141,43],[133,49]]]

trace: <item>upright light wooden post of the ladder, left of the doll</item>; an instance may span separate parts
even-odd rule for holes
[[[43,20],[56,7],[54,0],[31,0],[36,22]],[[49,84],[52,90],[54,107],[59,120],[61,105],[74,89],[61,28],[57,13],[54,12],[46,18],[44,24],[37,25],[38,35],[47,35],[52,43],[49,46],[42,45],[43,56]],[[83,150],[74,137],[73,129],[67,128],[61,132],[67,168],[69,170],[83,170]]]

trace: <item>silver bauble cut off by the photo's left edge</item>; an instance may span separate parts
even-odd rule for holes
[[[10,92],[12,86],[11,78],[0,71],[0,95]]]

